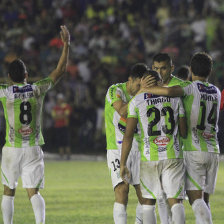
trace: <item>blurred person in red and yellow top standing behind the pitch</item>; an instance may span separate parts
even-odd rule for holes
[[[52,117],[54,119],[54,139],[56,147],[59,150],[60,158],[64,158],[66,153],[67,159],[70,159],[70,130],[69,119],[71,115],[71,106],[65,103],[64,95],[59,93],[57,95],[56,106],[52,109]]]

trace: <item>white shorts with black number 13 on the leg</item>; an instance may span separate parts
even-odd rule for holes
[[[113,188],[115,188],[119,183],[123,182],[120,176],[120,159],[121,150],[107,150],[107,165],[110,171]],[[130,151],[127,159],[127,168],[131,175],[128,183],[131,185],[140,184],[140,152],[138,150]]]

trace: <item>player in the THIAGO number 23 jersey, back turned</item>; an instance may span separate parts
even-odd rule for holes
[[[149,75],[159,77],[155,71]],[[185,168],[180,147],[179,131],[186,136],[184,108],[180,98],[141,93],[129,103],[127,127],[122,144],[121,177],[125,180],[126,166],[137,122],[141,129],[140,181],[143,204],[143,223],[156,223],[155,203],[165,192],[172,212],[172,223],[185,223],[182,204]]]

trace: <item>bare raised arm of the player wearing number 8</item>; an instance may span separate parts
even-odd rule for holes
[[[49,75],[49,77],[52,79],[54,83],[57,82],[65,73],[69,56],[70,34],[66,26],[64,25],[61,26],[60,35],[61,40],[64,44],[63,50],[56,69],[52,71],[51,74]]]

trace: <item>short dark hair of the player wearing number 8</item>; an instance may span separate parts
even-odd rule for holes
[[[8,72],[13,82],[23,82],[25,79],[26,66],[21,59],[16,59],[9,64]]]

